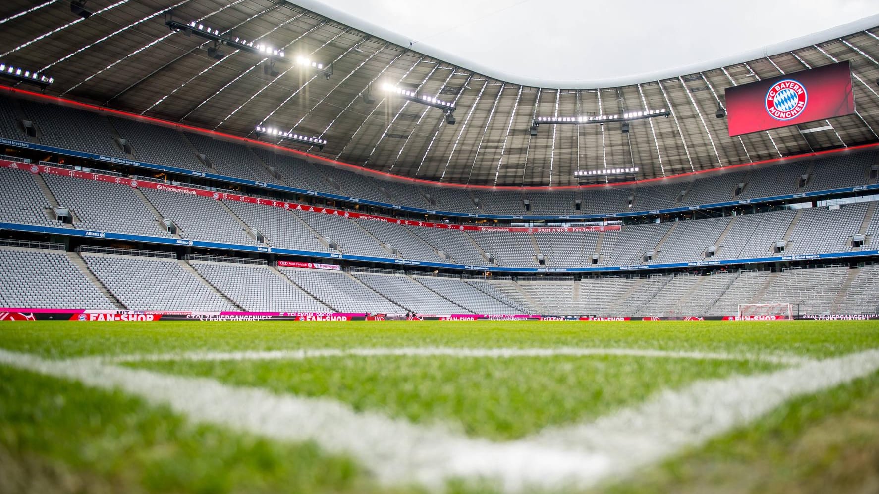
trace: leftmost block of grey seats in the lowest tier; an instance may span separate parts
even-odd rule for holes
[[[0,247],[0,305],[27,309],[105,309],[116,305],[64,251]]]

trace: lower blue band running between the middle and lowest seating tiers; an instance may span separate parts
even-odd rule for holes
[[[299,251],[295,249],[282,249],[280,247],[265,247],[261,245],[241,245],[237,243],[207,242],[203,240],[189,240],[183,238],[168,238],[164,236],[127,235],[121,233],[88,230],[88,229],[65,229],[58,227],[46,227],[40,225],[25,225],[20,223],[0,222],[0,230],[10,230],[26,233],[40,233],[45,235],[78,236],[87,238],[100,238],[105,240],[120,240],[123,242],[152,243],[163,245],[180,245],[220,251],[238,252],[262,252],[282,256],[296,256],[306,258],[329,258],[349,261],[361,261],[389,265],[413,265],[425,267],[444,267],[465,271],[489,271],[489,272],[620,272],[620,271],[643,271],[668,268],[685,268],[701,266],[744,265],[755,263],[771,263],[783,261],[818,260],[857,258],[861,256],[879,256],[879,251],[851,251],[831,252],[825,254],[800,254],[791,256],[774,256],[770,258],[743,258],[710,261],[691,261],[684,263],[657,263],[651,265],[606,265],[606,266],[574,266],[574,267],[534,267],[534,266],[500,266],[500,265],[459,265],[453,263],[441,263],[434,261],[421,261],[417,259],[398,258],[375,258],[373,256],[359,256],[356,254],[339,254],[316,251]]]

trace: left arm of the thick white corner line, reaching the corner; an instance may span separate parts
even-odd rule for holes
[[[224,425],[272,440],[314,440],[324,450],[351,454],[384,483],[423,483],[441,489],[447,479],[485,476],[513,488],[547,479],[599,478],[609,465],[599,453],[564,451],[527,441],[469,439],[440,425],[411,424],[358,412],[324,398],[276,395],[206,378],[102,365],[96,360],[44,360],[0,350],[0,364],[121,389],[196,422]]]

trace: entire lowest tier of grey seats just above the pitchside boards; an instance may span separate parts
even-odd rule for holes
[[[794,314],[879,311],[879,265],[708,274],[460,279],[178,260],[173,254],[76,254],[0,247],[6,308],[247,310],[419,314],[733,316],[739,304]],[[119,250],[117,250],[119,251]],[[142,252],[142,251],[138,251]],[[138,252],[134,252],[137,254]],[[164,256],[164,257],[161,257]],[[229,258],[232,261],[233,258]]]

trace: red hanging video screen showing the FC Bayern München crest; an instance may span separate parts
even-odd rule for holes
[[[854,113],[848,62],[726,88],[730,136]]]

